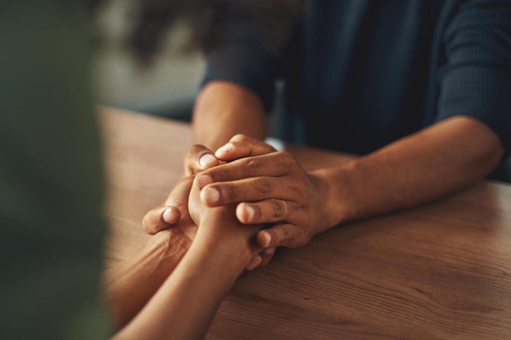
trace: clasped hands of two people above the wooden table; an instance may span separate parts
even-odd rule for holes
[[[239,228],[266,226],[254,232],[264,250],[247,265],[247,270],[253,270],[268,263],[275,247],[302,246],[330,227],[329,186],[321,171],[306,172],[288,152],[236,135],[216,152],[192,146],[184,166],[185,177],[166,202],[144,217],[148,233],[181,228],[193,241],[201,218],[211,211],[208,208],[223,206]],[[222,233],[211,234],[222,237]]]

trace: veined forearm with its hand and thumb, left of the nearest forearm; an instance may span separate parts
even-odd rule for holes
[[[165,203],[181,212],[179,221],[172,228],[156,233],[157,226],[165,223],[163,213],[146,215],[144,226],[148,233],[156,233],[155,236],[107,271],[105,296],[116,328],[125,326],[144,307],[190,248],[197,232],[188,213],[192,182],[192,177],[182,178]]]

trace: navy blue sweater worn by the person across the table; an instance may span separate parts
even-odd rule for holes
[[[248,29],[247,29],[248,28]],[[511,0],[319,0],[283,48],[246,22],[206,55],[271,107],[288,141],[366,154],[435,121],[474,117],[511,150]]]

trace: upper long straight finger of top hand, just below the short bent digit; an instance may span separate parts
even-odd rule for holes
[[[282,176],[291,171],[294,164],[294,159],[289,153],[272,152],[208,169],[198,175],[197,184],[199,188],[204,188],[213,182],[226,182],[256,176]]]

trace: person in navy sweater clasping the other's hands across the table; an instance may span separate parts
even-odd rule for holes
[[[203,202],[275,223],[249,269],[276,246],[472,185],[511,149],[510,1],[308,1],[301,13],[289,32],[224,21],[196,101],[185,168],[206,170]],[[361,157],[306,172],[261,142],[277,79],[286,140]],[[148,213],[153,227],[178,219],[165,208]]]

